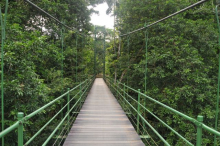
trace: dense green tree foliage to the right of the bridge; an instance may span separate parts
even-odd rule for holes
[[[195,2],[118,1],[115,11],[117,29],[120,34],[125,34]],[[212,2],[207,2],[147,29],[146,93],[191,117],[203,115],[205,123],[211,127],[215,118],[219,53],[217,26],[212,11]],[[144,31],[120,39],[116,42],[116,51],[109,49],[108,52],[111,54],[108,56],[109,74],[112,77],[117,74],[117,79],[144,92]],[[130,94],[133,94],[132,91]],[[134,97],[137,98],[136,95]],[[192,143],[195,142],[196,130],[188,121],[153,102],[147,101],[147,107]],[[146,113],[146,118],[171,145],[185,145],[149,113]],[[152,132],[150,134],[160,144],[158,137]],[[205,133],[203,137],[204,145],[213,144],[213,135]]]

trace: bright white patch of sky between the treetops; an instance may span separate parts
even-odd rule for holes
[[[99,11],[98,14],[92,14],[91,23],[94,25],[105,26],[106,28],[114,28],[114,17],[106,15],[106,10],[108,9],[107,3],[97,5],[94,10]]]

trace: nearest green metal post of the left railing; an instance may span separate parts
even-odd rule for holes
[[[18,146],[23,146],[23,119],[24,113],[19,112],[18,113],[18,121],[19,121],[19,126],[18,126]]]

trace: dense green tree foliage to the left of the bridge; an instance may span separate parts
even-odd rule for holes
[[[90,1],[32,2],[85,35],[92,31],[89,21],[94,10],[87,8]],[[0,4],[4,16],[5,2],[1,1]],[[61,29],[64,36],[63,56]],[[10,1],[4,47],[5,127],[17,120],[18,112],[30,114],[60,96],[67,88],[72,88],[88,78],[93,73],[92,42],[91,37],[78,35],[76,48],[76,32],[56,24],[23,0]],[[25,123],[25,142],[60,110],[62,103],[66,103],[65,99]],[[55,119],[30,145],[41,145],[58,121],[60,118]],[[6,137],[5,145],[17,145],[15,139],[17,131]],[[52,142],[53,140],[49,145]]]

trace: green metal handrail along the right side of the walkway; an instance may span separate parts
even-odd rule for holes
[[[177,131],[175,131],[173,128],[171,128],[168,124],[166,124],[165,122],[163,122],[160,118],[158,118],[155,114],[153,114],[153,112],[151,112],[149,109],[147,109],[145,106],[143,106],[140,103],[140,96],[149,99],[150,101],[153,101],[154,103],[168,109],[169,111],[181,116],[182,118],[185,118],[187,120],[189,120],[190,122],[192,122],[196,127],[197,127],[197,137],[196,137],[196,146],[201,146],[202,144],[202,129],[216,135],[216,136],[220,136],[220,132],[214,130],[213,128],[205,125],[203,123],[203,116],[199,116],[197,117],[197,119],[194,119],[190,116],[187,116],[186,114],[183,114],[177,110],[175,110],[172,107],[169,107],[155,99],[153,99],[152,97],[149,97],[147,95],[145,95],[144,93],[141,93],[140,90],[135,90],[127,85],[125,85],[124,83],[121,83],[119,81],[117,81],[116,83],[114,83],[114,79],[111,79],[110,77],[106,77],[105,78],[106,83],[108,84],[108,86],[110,87],[110,89],[113,89],[116,91],[117,95],[120,95],[127,103],[128,105],[136,112],[137,116],[140,117],[143,122],[145,124],[147,124],[149,126],[149,123],[147,122],[147,120],[141,115],[140,113],[140,106],[147,112],[149,112],[152,116],[154,116],[159,122],[161,122],[165,127],[167,127],[168,129],[170,129],[172,132],[174,132],[179,138],[181,138],[182,140],[184,140],[188,145],[193,146],[194,144],[192,144],[190,141],[188,141],[187,139],[185,139],[181,134],[179,134]],[[122,85],[123,88],[121,88],[119,85]],[[132,91],[134,91],[135,93],[137,93],[138,95],[138,100],[134,99],[132,96],[130,96],[128,93],[126,93],[125,88],[128,88]],[[123,94],[122,94],[123,93]],[[135,108],[133,107],[133,105],[126,99],[126,97],[129,97],[130,99],[132,99],[134,102],[136,102],[138,104],[138,107]],[[139,118],[137,118],[137,124],[139,124]],[[150,125],[149,126],[154,132],[155,129]],[[139,127],[137,125],[137,132],[139,130]],[[157,131],[155,132],[155,134],[164,142],[165,145],[170,145],[167,143],[167,141],[164,141],[164,138],[161,135],[158,135]]]

